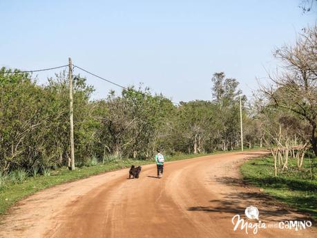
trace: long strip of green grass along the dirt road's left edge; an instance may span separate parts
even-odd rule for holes
[[[166,156],[167,161],[176,161],[181,159],[190,159],[193,157],[202,157],[208,154],[199,155],[175,155],[173,157]],[[106,161],[106,163],[97,163],[95,166],[83,166],[76,168],[74,171],[68,170],[68,168],[58,168],[57,170],[51,170],[50,176],[27,177],[26,180],[19,183],[12,183],[9,178],[0,184],[0,215],[4,214],[10,206],[15,204],[23,197],[32,195],[39,190],[49,188],[58,184],[64,184],[66,182],[75,181],[77,179],[84,179],[92,175],[98,175],[102,172],[108,172],[118,170],[122,168],[128,168],[132,164],[135,166],[146,165],[155,163],[153,160],[136,160],[136,159],[115,159],[112,161]],[[93,163],[95,164],[95,163]],[[1,177],[1,175],[0,175]],[[0,178],[1,179],[1,178]]]

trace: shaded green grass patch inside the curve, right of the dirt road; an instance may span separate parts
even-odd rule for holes
[[[295,159],[289,159],[288,170],[279,170],[277,177],[273,157],[248,160],[240,172],[248,184],[263,188],[271,197],[317,219],[317,158],[305,158],[300,170]]]

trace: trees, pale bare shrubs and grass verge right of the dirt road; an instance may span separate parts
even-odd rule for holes
[[[260,85],[255,119],[271,157],[249,160],[243,178],[271,197],[317,218],[317,27],[277,48],[278,70]]]

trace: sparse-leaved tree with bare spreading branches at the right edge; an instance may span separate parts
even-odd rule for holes
[[[317,27],[307,28],[295,46],[276,50],[282,61],[282,72],[269,75],[273,82],[261,90],[269,98],[269,106],[291,112],[311,127],[311,147],[317,155]]]

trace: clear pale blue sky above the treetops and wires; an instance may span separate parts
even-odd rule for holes
[[[223,71],[249,96],[256,77],[276,67],[274,48],[316,23],[316,11],[302,14],[300,1],[0,0],[0,66],[49,68],[70,56],[97,75],[124,86],[142,82],[173,101],[211,99],[213,72]],[[120,90],[86,76],[94,98]]]

